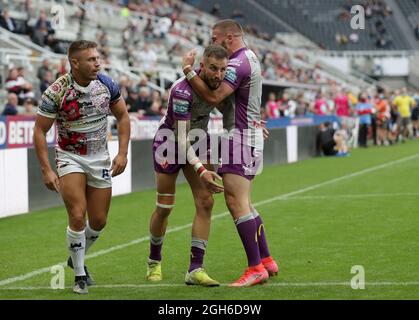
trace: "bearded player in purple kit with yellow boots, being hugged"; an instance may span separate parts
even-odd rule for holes
[[[199,77],[215,90],[224,79],[227,70],[228,53],[219,45],[210,45],[204,51],[200,64]],[[192,90],[185,77],[176,81],[170,89],[168,111],[162,119],[159,130],[153,141],[154,170],[157,184],[156,208],[150,219],[150,255],[147,264],[146,278],[149,281],[162,280],[161,260],[162,245],[168,217],[174,207],[176,179],[182,169],[188,181],[194,202],[195,217],[192,224],[191,258],[189,270],[185,276],[188,285],[218,286],[219,283],[210,278],[203,266],[205,250],[211,225],[211,211],[214,203],[212,194],[223,191],[223,187],[215,182],[221,178],[212,171],[208,145],[209,114],[214,107],[200,99]],[[197,156],[191,147],[186,134],[200,129],[204,143],[203,152]],[[172,133],[172,134],[171,134]],[[164,141],[163,136],[173,136]],[[177,141],[174,141],[176,137]],[[160,152],[166,146],[166,154]],[[195,147],[195,145],[194,145]],[[187,150],[187,161],[182,162],[177,150]],[[168,160],[172,157],[172,161]],[[201,162],[200,158],[204,161]]]

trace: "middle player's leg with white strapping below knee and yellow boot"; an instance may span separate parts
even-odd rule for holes
[[[160,281],[161,250],[170,213],[175,205],[177,173],[156,172],[157,201],[150,218],[150,255],[147,266],[147,280]]]

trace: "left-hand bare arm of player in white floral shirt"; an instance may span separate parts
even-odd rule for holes
[[[55,171],[51,168],[48,160],[48,144],[46,134],[54,124],[55,118],[49,118],[37,114],[35,119],[35,127],[33,131],[33,139],[35,151],[38,157],[42,178],[44,184],[50,190],[60,192],[59,179]]]

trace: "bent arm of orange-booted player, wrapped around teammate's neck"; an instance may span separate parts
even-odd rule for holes
[[[182,58],[183,73],[188,79],[193,90],[207,103],[212,105],[220,104],[225,98],[234,92],[234,89],[223,82],[216,90],[211,90],[208,85],[197,77],[192,66],[195,63],[196,49],[187,52]]]

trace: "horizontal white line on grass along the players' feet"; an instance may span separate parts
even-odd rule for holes
[[[383,282],[365,282],[365,287],[386,287],[386,286],[418,286],[419,281],[407,281],[407,282],[396,282],[396,281],[383,281]],[[221,287],[227,287],[228,283],[221,283]],[[351,288],[350,282],[276,282],[266,283],[263,287],[348,287]],[[93,289],[141,289],[141,288],[173,288],[173,287],[190,287],[186,284],[180,283],[166,283],[166,284],[105,284],[105,285],[94,285]],[[257,286],[255,286],[257,287]],[[72,286],[66,286],[65,289],[71,289]],[[65,289],[52,289],[51,287],[3,287],[0,291],[6,290],[21,290],[21,291],[33,291],[33,290],[51,290],[51,291],[62,291]]]

